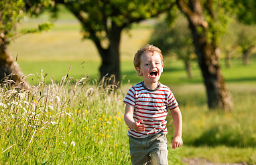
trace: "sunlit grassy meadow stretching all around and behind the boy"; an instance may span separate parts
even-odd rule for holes
[[[66,13],[65,13],[66,14]],[[21,25],[32,27],[38,21]],[[133,68],[133,54],[147,43],[151,28],[135,25],[121,40],[121,88],[103,88],[97,49],[81,40],[79,23],[62,15],[52,31],[29,34],[13,41],[9,51],[30,90],[0,91],[0,164],[131,164],[123,98],[141,78]],[[233,112],[208,110],[197,63],[192,78],[182,61],[164,57],[160,81],[174,92],[183,117],[184,146],[169,149],[169,164],[183,158],[211,162],[256,164],[256,61],[245,66],[240,58],[231,67],[222,63],[226,85],[233,95]],[[168,148],[174,132],[168,116]]]

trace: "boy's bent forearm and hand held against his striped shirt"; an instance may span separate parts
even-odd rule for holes
[[[129,128],[137,131],[145,131],[145,125],[140,124],[143,120],[138,120],[137,122],[133,119],[133,106],[126,104],[125,106],[125,115],[123,116],[125,123]]]

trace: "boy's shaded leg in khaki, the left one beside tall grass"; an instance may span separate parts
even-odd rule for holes
[[[129,136],[129,146],[131,154],[131,162],[133,165],[150,164],[150,156],[145,152],[143,139],[133,138]]]

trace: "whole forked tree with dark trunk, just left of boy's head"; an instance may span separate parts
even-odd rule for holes
[[[131,23],[155,17],[174,5],[170,0],[55,1],[64,4],[78,18],[83,37],[91,39],[101,55],[101,77],[115,75],[111,84],[119,81],[121,31]]]

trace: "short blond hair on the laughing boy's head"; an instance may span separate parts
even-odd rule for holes
[[[162,63],[164,63],[164,58],[163,58],[163,55],[162,55],[162,51],[158,48],[158,47],[155,47],[154,45],[145,45],[145,47],[141,47],[141,49],[139,49],[137,51],[137,53],[135,53],[135,56],[134,56],[134,59],[133,59],[133,65],[134,67],[139,67],[140,68],[140,65],[141,65],[141,55],[145,52],[145,51],[149,51],[149,52],[152,52],[152,55],[155,51],[157,51],[161,57],[161,61]]]

